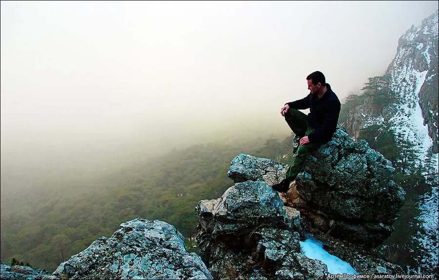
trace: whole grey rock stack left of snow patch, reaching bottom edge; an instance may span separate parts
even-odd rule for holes
[[[264,174],[262,174],[263,176]],[[327,267],[300,252],[300,213],[264,182],[236,183],[196,207],[200,256],[215,278],[323,279]]]

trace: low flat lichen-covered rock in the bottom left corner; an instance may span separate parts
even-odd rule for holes
[[[0,279],[60,279],[45,271],[44,269],[24,266],[24,265],[7,265],[0,262],[1,273]]]

